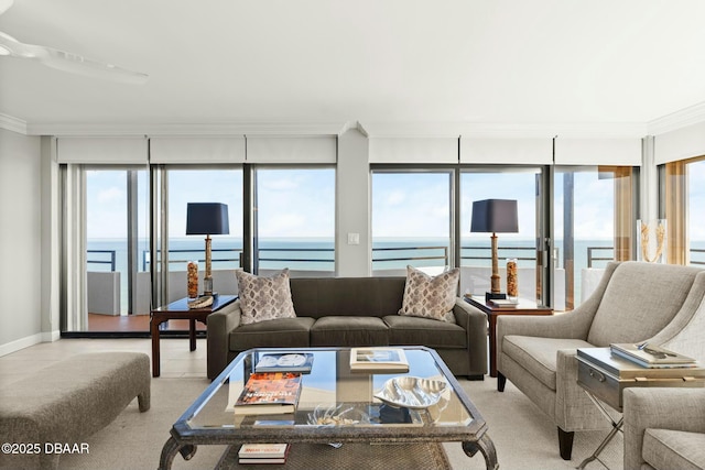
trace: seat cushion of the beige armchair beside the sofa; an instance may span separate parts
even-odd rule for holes
[[[506,336],[502,353],[509,356],[531,375],[551,390],[555,390],[556,354],[561,349],[592,348],[582,339]]]

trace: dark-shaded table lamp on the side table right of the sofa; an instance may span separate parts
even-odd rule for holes
[[[499,267],[497,262],[497,233],[519,232],[517,216],[517,201],[510,199],[485,199],[473,203],[473,218],[470,232],[492,233],[492,275],[490,277],[490,292],[485,294],[485,299],[507,298],[499,287]]]

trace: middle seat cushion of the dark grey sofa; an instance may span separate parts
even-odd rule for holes
[[[311,327],[311,346],[388,346],[389,328],[378,317],[327,316]]]

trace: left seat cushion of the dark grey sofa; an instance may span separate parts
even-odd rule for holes
[[[311,317],[295,317],[240,325],[230,332],[230,350],[308,347],[310,330],[314,321]]]

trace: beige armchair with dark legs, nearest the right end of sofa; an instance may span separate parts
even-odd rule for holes
[[[509,379],[557,426],[561,457],[576,430],[610,424],[577,385],[577,348],[649,340],[664,345],[687,325],[705,295],[705,271],[642,262],[609,263],[579,307],[551,317],[501,316],[497,387]]]

